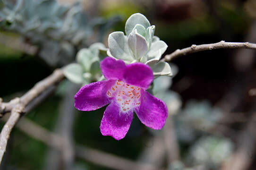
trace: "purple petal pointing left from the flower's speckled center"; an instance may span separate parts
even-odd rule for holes
[[[106,92],[115,80],[104,80],[83,86],[75,95],[75,107],[78,110],[90,111],[110,103]]]

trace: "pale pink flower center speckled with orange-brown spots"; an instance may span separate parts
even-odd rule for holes
[[[122,112],[128,112],[140,105],[140,87],[128,85],[120,80],[108,90],[107,95],[113,97]]]

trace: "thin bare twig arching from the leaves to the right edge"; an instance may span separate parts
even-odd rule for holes
[[[181,50],[176,50],[172,52],[169,55],[166,55],[163,60],[170,61],[171,59],[174,59],[176,57],[191,54],[198,51],[206,51],[206,50],[214,50],[214,49],[222,49],[222,48],[228,48],[228,49],[255,49],[256,50],[256,44],[255,43],[249,43],[249,42],[217,42],[217,43],[211,43],[211,44],[202,44],[202,45],[191,45],[191,47],[187,47]]]

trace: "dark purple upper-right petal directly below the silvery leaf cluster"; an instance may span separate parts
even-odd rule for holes
[[[147,89],[153,81],[152,69],[143,63],[133,63],[127,65],[124,73],[124,81],[131,85],[137,85]]]

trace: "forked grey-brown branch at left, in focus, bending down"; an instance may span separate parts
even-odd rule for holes
[[[21,116],[21,113],[25,113],[26,106],[37,98],[38,95],[47,91],[49,87],[57,84],[64,78],[61,69],[56,69],[50,76],[46,77],[42,81],[38,82],[34,87],[25,93],[22,97],[11,100],[8,103],[0,100],[0,114],[11,112],[11,115],[4,125],[0,133],[0,162],[2,161],[3,155],[6,150],[7,142],[12,128],[17,123]],[[42,98],[42,100],[44,97]],[[29,106],[31,107],[31,106]]]

